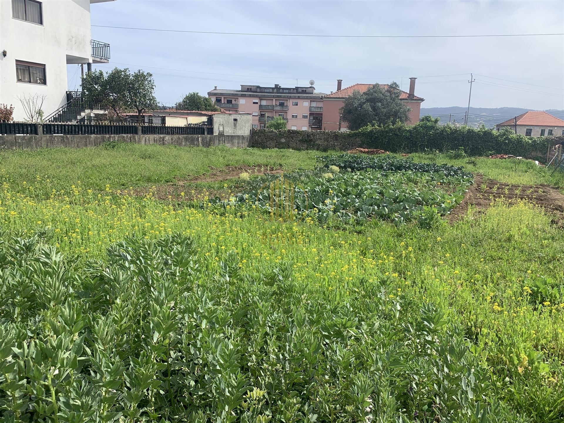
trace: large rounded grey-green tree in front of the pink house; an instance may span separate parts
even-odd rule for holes
[[[347,97],[340,112],[349,129],[356,130],[367,125],[384,125],[386,122],[409,120],[411,109],[399,99],[402,90],[392,82],[383,89],[377,83],[364,92],[355,91]]]

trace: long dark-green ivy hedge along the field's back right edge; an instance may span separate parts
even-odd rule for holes
[[[425,116],[416,125],[389,124],[367,126],[350,135],[370,148],[390,152],[422,152],[428,149],[446,152],[464,148],[470,156],[512,154],[523,157],[543,157],[549,139],[515,134],[511,128],[500,131],[486,127],[439,125],[438,119]]]

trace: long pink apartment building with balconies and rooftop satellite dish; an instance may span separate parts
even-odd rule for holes
[[[283,117],[288,129],[321,130],[323,121],[323,92],[310,87],[261,87],[241,85],[240,90],[215,87],[208,96],[226,112],[250,113],[253,129],[266,126],[276,116]]]

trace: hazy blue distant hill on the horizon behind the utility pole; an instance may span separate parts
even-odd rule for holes
[[[492,127],[496,124],[500,124],[503,121],[506,121],[515,116],[519,116],[519,114],[528,112],[530,110],[532,109],[523,109],[520,107],[470,107],[468,125],[478,126],[483,122],[483,124],[487,127]],[[449,118],[451,122],[464,122],[465,112],[466,107],[458,106],[421,108],[421,116],[430,114],[431,116],[439,117],[441,124],[448,123]],[[545,110],[545,112],[564,120],[564,110],[547,109]]]

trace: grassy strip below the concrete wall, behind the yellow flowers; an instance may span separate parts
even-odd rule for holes
[[[117,148],[52,148],[0,152],[0,169],[14,180],[41,175],[55,186],[78,180],[94,190],[139,187],[173,182],[175,178],[208,173],[210,166],[263,165],[284,170],[311,168],[319,152],[122,145]]]

